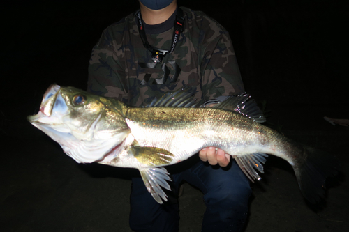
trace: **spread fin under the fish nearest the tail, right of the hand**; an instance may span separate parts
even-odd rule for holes
[[[251,155],[234,155],[233,157],[235,158],[237,164],[239,164],[239,167],[242,169],[242,171],[244,171],[245,175],[252,182],[254,182],[253,180],[262,179],[258,175],[258,172],[255,171],[255,169],[258,170],[260,173],[264,173],[262,164],[265,163],[265,158],[268,157],[268,155],[264,153],[254,153]]]

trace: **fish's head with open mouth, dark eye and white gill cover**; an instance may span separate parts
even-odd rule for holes
[[[117,100],[52,84],[38,114],[27,119],[75,161],[96,162],[111,151],[116,155],[121,152],[120,144],[130,133],[126,109]]]

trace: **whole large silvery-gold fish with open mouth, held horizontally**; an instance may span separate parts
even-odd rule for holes
[[[130,107],[52,84],[38,114],[27,120],[76,162],[138,169],[158,203],[167,201],[163,188],[170,190],[165,166],[209,146],[231,155],[251,181],[261,179],[258,172],[263,173],[268,155],[280,157],[295,171],[305,199],[316,203],[325,197],[325,180],[339,169],[336,157],[262,125],[265,117],[247,93],[211,103],[216,104],[200,105],[193,91],[181,88],[154,98],[146,107]]]

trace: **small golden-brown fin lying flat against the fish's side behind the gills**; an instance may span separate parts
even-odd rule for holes
[[[170,164],[174,156],[168,150],[149,146],[132,146],[130,151],[138,162],[147,164],[150,167]]]

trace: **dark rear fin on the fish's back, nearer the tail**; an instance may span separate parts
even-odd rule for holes
[[[257,123],[264,123],[266,121],[255,100],[252,100],[251,95],[246,93],[237,96],[229,96],[229,98],[223,100],[223,102],[219,102],[212,108],[236,111],[239,114],[253,119],[253,121]]]

